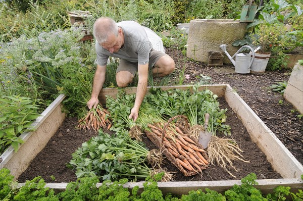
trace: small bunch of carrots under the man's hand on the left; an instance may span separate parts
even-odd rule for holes
[[[104,128],[110,129],[112,123],[108,119],[110,113],[98,105],[96,108],[92,108],[88,114],[78,121],[78,128],[83,130],[99,130]]]

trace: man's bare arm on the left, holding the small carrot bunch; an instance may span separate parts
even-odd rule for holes
[[[91,109],[92,107],[96,108],[99,103],[98,95],[105,82],[105,73],[106,66],[97,65],[97,69],[93,78],[91,97],[87,102],[88,109]]]

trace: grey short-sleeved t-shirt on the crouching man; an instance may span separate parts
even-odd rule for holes
[[[117,24],[124,32],[124,45],[118,53],[111,54],[96,41],[98,65],[105,66],[110,56],[144,65],[149,61],[151,48],[165,52],[162,39],[154,31],[134,21],[122,21]]]

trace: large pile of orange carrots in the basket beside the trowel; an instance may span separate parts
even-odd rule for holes
[[[160,123],[147,126],[150,129],[150,131],[145,130],[147,137],[162,148],[166,157],[185,176],[201,174],[209,165],[203,146],[184,134],[179,127],[170,125],[164,127]]]

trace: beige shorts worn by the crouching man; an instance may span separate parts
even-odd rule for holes
[[[148,67],[153,68],[154,65],[158,62],[158,60],[165,55],[167,54],[152,49],[149,53]],[[119,71],[128,71],[131,74],[135,75],[136,72],[138,71],[138,63],[133,63],[125,59],[120,59],[120,63],[116,73],[118,73]]]

